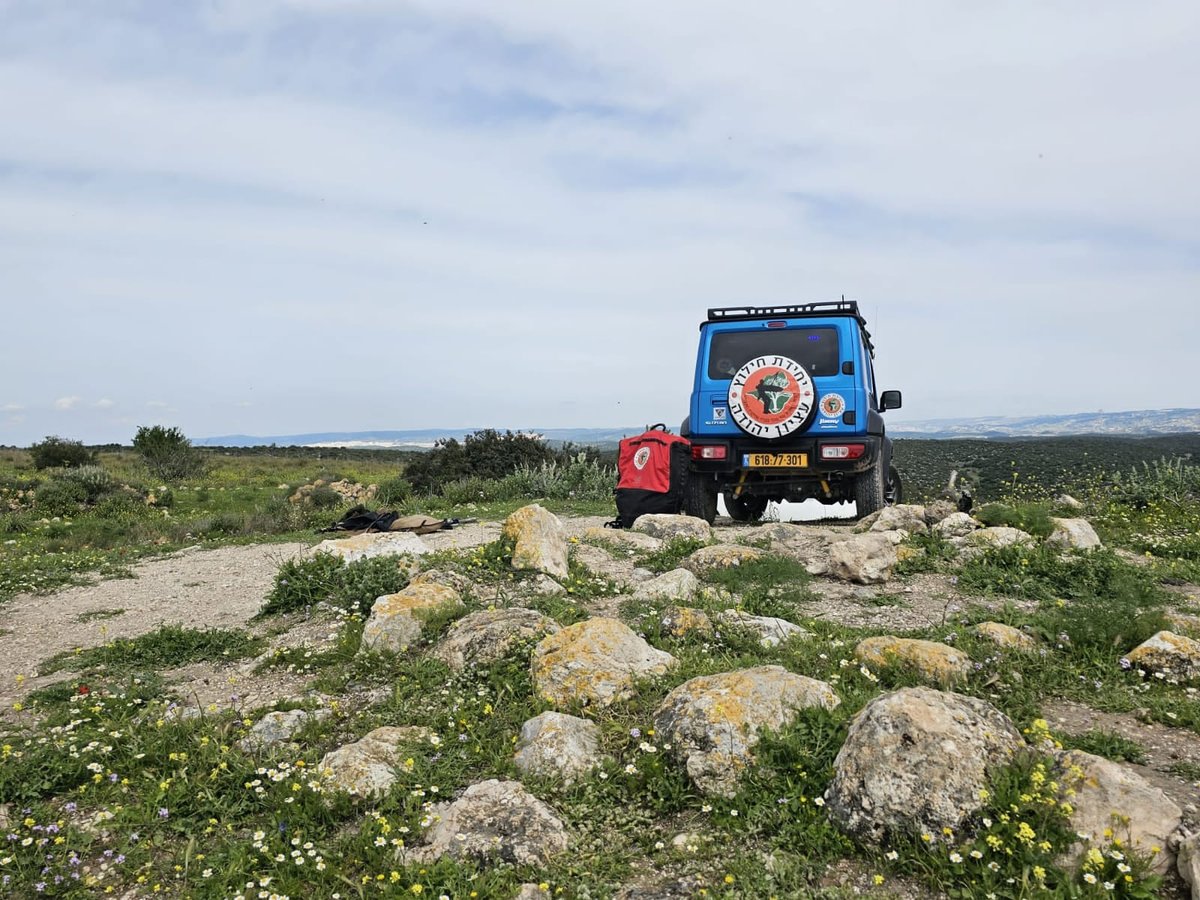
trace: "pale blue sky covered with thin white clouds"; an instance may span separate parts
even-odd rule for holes
[[[0,0],[0,444],[686,412],[863,305],[895,421],[1200,407],[1200,4]]]

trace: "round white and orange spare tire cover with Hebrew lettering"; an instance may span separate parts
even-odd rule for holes
[[[791,434],[812,415],[812,379],[787,356],[756,356],[733,376],[730,415],[756,438]]]

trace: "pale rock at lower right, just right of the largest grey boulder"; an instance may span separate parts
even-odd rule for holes
[[[1061,782],[1070,797],[1070,827],[1086,839],[1072,846],[1066,859],[1075,865],[1091,846],[1102,850],[1121,841],[1123,847],[1153,854],[1154,871],[1163,874],[1175,863],[1168,839],[1180,827],[1183,811],[1159,788],[1128,766],[1102,756],[1070,750],[1058,758]],[[1110,835],[1105,830],[1111,829]]]

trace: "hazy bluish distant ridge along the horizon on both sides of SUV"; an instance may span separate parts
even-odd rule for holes
[[[977,416],[971,419],[929,419],[895,421],[888,416],[888,433],[896,438],[1015,438],[1109,434],[1151,437],[1154,434],[1200,433],[1200,409],[1136,409],[1118,413],[1074,413],[1070,415]],[[551,444],[616,446],[642,425],[610,428],[511,428],[540,434]],[[445,438],[462,440],[479,428],[410,428],[404,431],[319,431],[307,434],[221,434],[198,438],[198,446],[346,446],[364,449],[427,450]],[[500,430],[503,431],[503,428]]]

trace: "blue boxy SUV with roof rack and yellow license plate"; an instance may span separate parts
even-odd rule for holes
[[[875,348],[853,300],[709,310],[700,326],[684,511],[737,521],[770,500],[853,500],[859,516],[900,502]]]

